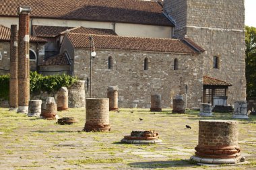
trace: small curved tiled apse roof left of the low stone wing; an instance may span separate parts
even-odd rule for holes
[[[43,65],[70,65],[70,62],[67,53],[63,52],[62,54],[57,54],[56,56],[47,58]]]

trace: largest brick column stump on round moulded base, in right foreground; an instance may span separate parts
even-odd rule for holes
[[[234,164],[245,161],[238,146],[238,122],[199,120],[198,145],[192,161],[209,164]]]

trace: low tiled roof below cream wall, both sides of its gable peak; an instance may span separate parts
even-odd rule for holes
[[[40,37],[55,37],[69,30],[72,33],[80,34],[100,34],[117,36],[114,30],[100,28],[84,28],[84,27],[60,27],[60,26],[33,26],[33,31],[36,36]]]

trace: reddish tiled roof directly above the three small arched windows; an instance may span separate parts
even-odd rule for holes
[[[90,48],[89,34],[67,34],[75,48]],[[93,35],[95,48],[199,54],[183,40]]]

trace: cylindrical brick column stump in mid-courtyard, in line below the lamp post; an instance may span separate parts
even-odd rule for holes
[[[108,132],[109,124],[109,101],[104,99],[86,99],[86,132]]]

